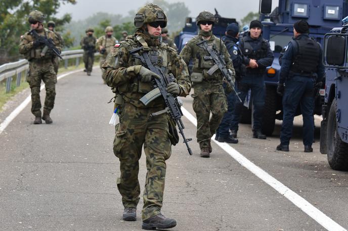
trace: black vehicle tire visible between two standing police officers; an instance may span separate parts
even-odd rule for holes
[[[273,86],[266,86],[264,118],[262,120],[262,132],[266,136],[272,136],[276,123],[277,91]]]

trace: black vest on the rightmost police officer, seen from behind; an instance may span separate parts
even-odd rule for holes
[[[301,37],[291,41],[295,49],[290,70],[294,73],[312,75],[318,70],[320,45],[311,38]]]

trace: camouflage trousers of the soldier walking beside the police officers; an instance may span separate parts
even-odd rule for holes
[[[223,92],[202,90],[195,86],[194,94],[191,96],[197,118],[197,142],[201,149],[207,148],[210,138],[215,134],[227,111],[226,95]]]

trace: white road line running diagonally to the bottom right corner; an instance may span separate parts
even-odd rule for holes
[[[183,114],[185,117],[197,127],[196,118],[187,111],[184,107],[181,107]],[[303,212],[307,213],[310,217],[312,217],[315,221],[317,221],[320,225],[322,225],[327,230],[337,231],[337,230],[345,230],[338,223],[333,221],[330,217],[325,215],[322,211],[314,207],[311,203],[300,197],[298,194],[293,192],[291,189],[283,185],[277,179],[269,175],[265,170],[256,166],[250,160],[245,158],[242,154],[240,154],[236,149],[231,147],[227,143],[220,143],[214,140],[215,135],[211,138],[217,145],[219,145],[224,151],[226,151],[232,158],[234,158],[237,162],[239,162],[243,167],[251,171],[256,177],[266,182],[272,188],[274,188],[278,193],[282,194],[289,201],[291,201],[294,205],[296,205]]]

